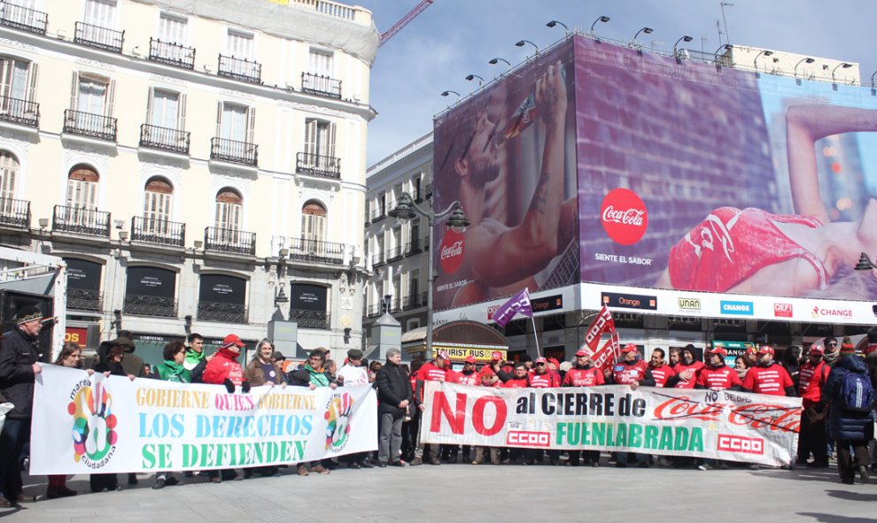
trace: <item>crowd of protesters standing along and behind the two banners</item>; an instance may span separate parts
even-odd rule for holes
[[[0,350],[0,401],[14,404],[7,414],[0,434],[0,507],[12,507],[19,503],[36,501],[36,496],[22,492],[22,461],[27,457],[31,406],[35,375],[42,372],[38,361],[39,348],[36,338],[42,327],[42,316],[33,307],[19,311],[17,328],[4,336]],[[788,347],[777,354],[769,345],[753,347],[726,365],[726,350],[709,348],[701,361],[693,345],[671,348],[668,353],[655,349],[648,361],[640,355],[636,345],[629,343],[621,349],[621,358],[603,371],[594,366],[593,354],[587,348],[578,350],[573,361],[559,362],[554,358],[536,358],[527,355],[519,361],[503,361],[500,352],[494,352],[489,363],[478,366],[476,358],[466,358],[462,369],[454,371],[446,352],[439,350],[437,357],[428,362],[401,363],[400,350],[390,349],[385,363],[369,364],[361,350],[347,352],[344,364],[338,365],[328,358],[329,351],[315,349],[307,361],[284,372],[283,354],[277,352],[270,340],[256,346],[255,356],[243,367],[237,359],[245,349],[237,335],[225,337],[219,349],[212,355],[204,351],[201,335],[188,336],[187,343],[169,342],[163,350],[164,361],[159,365],[145,365],[134,354],[135,344],[130,334],[120,332],[109,342],[101,343],[97,361],[89,373],[127,376],[128,379],[152,378],[179,383],[207,383],[224,387],[229,393],[243,393],[252,387],[307,387],[337,388],[371,383],[378,399],[377,427],[378,450],[361,452],[338,459],[323,459],[311,463],[295,464],[295,473],[328,474],[330,470],[346,465],[352,469],[441,465],[462,462],[472,465],[548,465],[600,466],[601,452],[597,450],[535,450],[516,448],[485,448],[457,445],[424,444],[418,437],[420,416],[425,409],[423,390],[427,381],[460,383],[490,388],[555,388],[594,387],[619,385],[633,390],[640,387],[656,388],[710,388],[731,389],[776,396],[800,396],[803,398],[803,416],[797,465],[814,468],[828,466],[829,458],[836,452],[840,479],[852,483],[858,473],[860,481],[869,481],[873,470],[869,455],[869,443],[873,443],[873,390],[877,376],[877,328],[854,347],[849,338],[839,344],[827,338],[824,344],[814,344],[806,355],[796,347]],[[864,358],[860,357],[864,356]],[[66,343],[55,365],[81,368],[82,353],[75,343]],[[869,388],[871,403],[850,406],[843,395],[848,383],[855,382],[861,390]],[[872,449],[873,450],[873,449]],[[812,458],[812,459],[811,459]],[[637,453],[612,453],[605,463],[617,467],[635,465],[648,468],[652,465],[673,467],[697,467],[701,470],[727,468],[729,464],[711,459],[680,457],[652,457]],[[757,465],[753,465],[757,466]],[[279,475],[287,465],[260,466],[235,470],[212,470],[206,472],[208,481],[237,481],[252,477]],[[185,473],[191,477],[198,473]],[[128,484],[137,483],[134,473],[128,474]],[[155,475],[152,488],[181,483],[170,471]],[[120,489],[117,474],[100,473],[90,477],[93,492]],[[46,496],[49,498],[76,495],[66,485],[66,476],[49,477]]]

